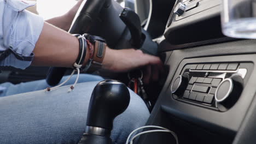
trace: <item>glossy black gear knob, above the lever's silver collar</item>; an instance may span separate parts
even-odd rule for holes
[[[86,124],[112,130],[114,118],[123,113],[129,103],[130,93],[124,83],[101,81],[92,92]]]

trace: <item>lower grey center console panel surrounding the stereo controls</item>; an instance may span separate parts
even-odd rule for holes
[[[237,40],[165,52],[168,77],[147,125],[175,131],[180,143],[232,143],[254,116],[255,45]],[[172,141],[148,134],[139,142],[153,140]]]

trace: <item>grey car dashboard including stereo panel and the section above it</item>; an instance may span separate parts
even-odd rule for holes
[[[187,9],[178,11],[179,3]],[[174,131],[179,143],[256,141],[256,41],[225,37],[221,10],[220,0],[175,1],[156,38],[168,75],[147,125]],[[138,143],[175,141],[154,133]]]

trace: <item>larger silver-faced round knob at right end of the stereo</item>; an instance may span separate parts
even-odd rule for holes
[[[220,82],[216,89],[215,100],[220,107],[233,106],[243,91],[243,79],[239,75],[232,76]]]

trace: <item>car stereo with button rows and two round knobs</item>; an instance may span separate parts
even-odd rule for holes
[[[187,64],[171,84],[172,97],[185,103],[226,111],[243,91],[250,63]]]

